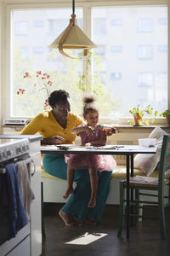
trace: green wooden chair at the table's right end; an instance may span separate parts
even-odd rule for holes
[[[143,218],[143,215],[139,214],[139,209],[142,208],[141,204],[157,206],[157,216],[151,216],[151,218],[159,218],[161,239],[166,238],[166,224],[165,224],[165,207],[170,205],[170,135],[164,135],[162,147],[161,147],[161,158],[158,178],[154,177],[130,177],[130,189],[135,192],[134,200],[130,201],[130,206],[135,208],[135,213],[130,213],[130,217],[135,220],[137,224],[139,218]],[[164,188],[168,185],[168,195],[164,195]],[[142,191],[140,191],[142,190]],[[144,190],[156,191],[155,194],[150,194]],[[120,182],[120,213],[119,213],[119,230],[117,236],[122,236],[122,230],[125,221],[125,208],[126,208],[126,181]],[[141,201],[140,196],[146,196],[147,201]],[[155,198],[155,201],[153,201]],[[149,200],[150,199],[150,200]],[[165,203],[165,199],[167,199]],[[152,200],[152,201],[151,201]],[[153,209],[153,207],[152,207]],[[147,217],[146,217],[147,218]]]

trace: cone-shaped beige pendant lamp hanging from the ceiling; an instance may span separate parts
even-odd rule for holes
[[[83,49],[83,55],[88,55],[88,49],[96,48],[88,36],[82,32],[82,29],[77,26],[75,15],[75,0],[72,0],[72,15],[69,25],[65,28],[58,38],[54,40],[49,48],[59,48],[59,53],[71,59],[77,59],[65,53],[64,49]]]

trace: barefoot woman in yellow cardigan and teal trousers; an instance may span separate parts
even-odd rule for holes
[[[31,120],[21,132],[21,135],[40,133],[43,137],[42,144],[72,144],[76,134],[71,129],[83,124],[82,118],[71,113],[69,94],[65,90],[54,90],[48,97],[51,110],[38,114]],[[111,134],[109,134],[111,135]],[[44,154],[43,168],[54,177],[66,180],[67,165],[63,154]],[[97,224],[102,217],[105,208],[105,201],[109,194],[110,179],[112,172],[98,172],[99,184],[96,206],[88,207],[91,195],[90,179],[88,169],[76,170],[74,181],[77,187],[71,194],[65,206],[59,211],[59,216],[67,226],[77,225],[76,218],[86,220],[88,224]]]

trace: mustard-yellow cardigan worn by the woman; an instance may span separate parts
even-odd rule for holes
[[[65,129],[54,119],[52,110],[46,110],[39,113],[26,127],[20,131],[21,135],[36,134],[37,132],[43,138],[60,136],[65,138],[65,144],[73,144],[76,134],[71,133],[71,129],[83,124],[83,119],[76,113],[69,113]]]

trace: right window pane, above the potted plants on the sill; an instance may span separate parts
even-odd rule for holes
[[[122,20],[122,26],[112,26],[111,20],[116,17]],[[105,37],[100,37],[100,40],[105,44],[105,59],[101,60],[101,65],[106,67],[104,84],[108,93],[107,102],[111,102],[111,109],[115,109],[122,117],[129,116],[128,109],[143,100],[144,105],[151,104],[153,108],[159,109],[155,93],[156,73],[163,72],[167,76],[167,52],[160,55],[156,50],[156,38],[159,38],[159,44],[167,44],[167,25],[163,29],[160,27],[157,22],[160,17],[167,18],[167,7],[119,6],[92,9],[92,21],[97,18],[105,20]],[[93,24],[94,21],[94,41],[96,36]],[[99,75],[100,71],[95,69],[94,74]],[[167,79],[162,79],[162,94],[165,96],[166,88]],[[167,101],[161,105],[166,109]],[[105,110],[104,115],[110,115],[109,110]]]

